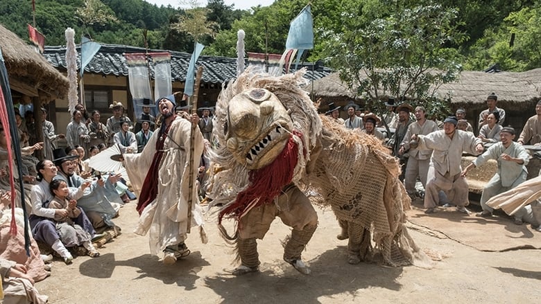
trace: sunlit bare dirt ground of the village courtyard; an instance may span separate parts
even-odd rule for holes
[[[415,242],[442,256],[432,269],[347,264],[347,241],[336,239],[330,210],[318,210],[319,227],[303,253],[312,274],[282,260],[280,240],[289,233],[279,219],[259,241],[261,272],[224,273],[233,256],[207,224],[209,243],[192,234],[191,255],[162,265],[148,252],[148,239],[132,233],[135,203],[120,211],[122,235],[100,249],[101,257],[52,263],[52,276],[37,283],[50,303],[539,303],[541,251],[479,251],[429,229],[411,226]],[[482,233],[482,231],[481,231]],[[535,233],[535,232],[534,232]],[[541,233],[534,235],[541,238]]]

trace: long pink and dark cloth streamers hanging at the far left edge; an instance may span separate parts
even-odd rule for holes
[[[4,98],[4,96],[6,98]],[[6,69],[6,62],[4,62],[2,50],[0,48],[0,121],[3,126],[3,132],[6,134],[6,141],[8,142],[8,166],[10,168],[10,174],[15,172],[13,169],[13,155],[21,155],[21,145],[19,141],[12,141],[11,135],[18,134],[17,132],[17,123],[15,120],[15,109],[13,108],[13,100],[11,97],[10,84],[8,80],[8,70]],[[11,149],[11,144],[13,144],[13,150]],[[22,172],[22,160],[20,157],[16,157],[17,161],[17,173],[19,177],[23,176]],[[11,176],[10,178],[11,186],[11,224],[10,224],[10,233],[15,235],[17,233],[17,224],[15,223],[15,180]],[[21,208],[24,215],[24,248],[26,249],[26,255],[30,256],[30,235],[28,234],[28,213],[26,212],[26,200],[24,199],[24,181],[22,178],[19,179],[19,188],[21,192],[21,202],[23,202]]]

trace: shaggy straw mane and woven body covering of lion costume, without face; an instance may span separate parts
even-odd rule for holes
[[[225,126],[229,101],[248,89],[268,89],[288,109],[293,130],[302,134],[292,134],[300,150],[293,175],[295,186],[309,192],[311,202],[331,206],[338,219],[357,224],[359,231],[354,233],[362,239],[363,259],[379,259],[393,266],[413,263],[426,267],[430,263],[427,256],[415,245],[404,226],[404,211],[410,208],[411,200],[397,178],[400,174],[397,159],[377,138],[347,130],[328,117],[318,115],[314,103],[302,90],[306,84],[303,73],[273,77],[254,74],[248,69],[223,88],[213,121],[218,147],[211,154],[214,168],[207,192],[213,199],[212,206],[221,206],[218,212],[223,211],[250,186],[249,170],[227,149]],[[237,242],[237,232],[237,226],[233,235],[221,227],[223,236],[236,245],[237,253],[243,251],[240,256],[249,256],[249,252],[244,252],[249,246]],[[237,255],[237,259],[240,256]]]

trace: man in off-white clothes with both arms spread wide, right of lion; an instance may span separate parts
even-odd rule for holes
[[[443,120],[443,130],[411,136],[412,141],[418,141],[418,149],[433,150],[424,193],[424,208],[427,208],[424,213],[435,212],[440,190],[456,206],[457,211],[468,213],[465,206],[470,202],[467,199],[468,186],[462,176],[462,152],[479,155],[484,147],[473,134],[457,130],[457,123],[456,117],[449,116]]]

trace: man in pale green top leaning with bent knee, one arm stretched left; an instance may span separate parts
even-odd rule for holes
[[[501,139],[498,143],[490,146],[486,152],[472,161],[462,172],[462,176],[466,177],[470,169],[481,166],[489,159],[495,159],[498,162],[498,172],[488,181],[488,184],[483,188],[483,194],[481,194],[481,208],[483,208],[483,211],[477,214],[481,217],[492,216],[494,209],[486,205],[488,199],[515,188],[526,181],[526,177],[528,177],[526,165],[529,163],[530,155],[522,145],[513,142],[515,129],[504,127],[501,129],[499,136]]]

